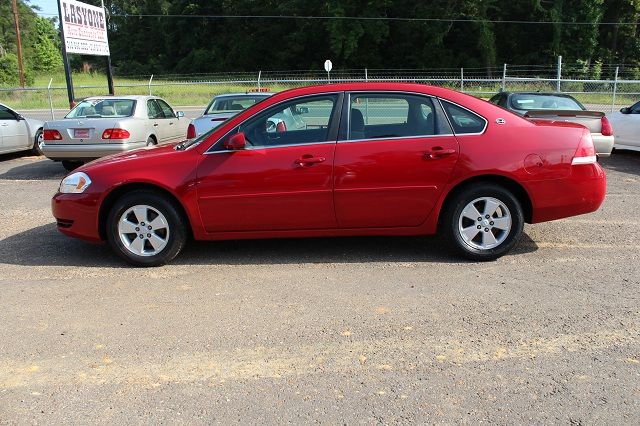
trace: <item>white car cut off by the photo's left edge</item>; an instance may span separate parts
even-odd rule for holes
[[[20,113],[0,104],[0,154],[30,150],[42,155],[44,122],[24,118]]]

